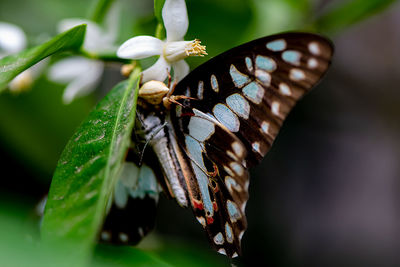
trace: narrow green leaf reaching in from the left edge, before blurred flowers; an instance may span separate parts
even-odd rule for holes
[[[78,50],[85,38],[86,25],[76,26],[50,41],[0,60],[0,92],[18,74],[55,53]]]

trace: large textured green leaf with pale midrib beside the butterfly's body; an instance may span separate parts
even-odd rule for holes
[[[70,266],[87,263],[102,226],[135,120],[140,69],[95,107],[65,147],[42,225],[46,244],[62,244]],[[67,257],[68,255],[68,257]]]

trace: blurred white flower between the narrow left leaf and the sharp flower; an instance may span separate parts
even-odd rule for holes
[[[114,48],[116,29],[105,31],[92,21],[77,18],[62,20],[58,29],[59,32],[63,32],[81,24],[87,24],[83,49],[88,53]],[[64,90],[63,102],[69,104],[75,98],[88,95],[96,89],[103,71],[102,61],[76,56],[60,60],[51,66],[48,78],[54,82],[68,84]]]

